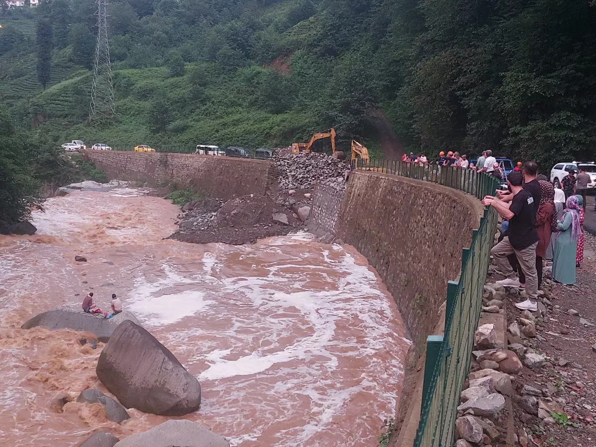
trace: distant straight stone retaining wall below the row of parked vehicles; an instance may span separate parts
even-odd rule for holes
[[[108,179],[142,182],[152,187],[175,182],[179,189],[200,189],[218,198],[264,195],[275,181],[273,163],[195,154],[83,151]]]

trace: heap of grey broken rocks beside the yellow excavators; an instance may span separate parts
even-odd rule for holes
[[[286,190],[311,190],[315,184],[333,185],[345,189],[345,173],[350,164],[319,153],[288,154],[277,151],[275,166],[280,172],[280,186]]]

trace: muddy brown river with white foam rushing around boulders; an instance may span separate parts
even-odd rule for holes
[[[144,191],[79,192],[35,212],[36,235],[0,236],[3,445],[76,445],[97,429],[122,439],[167,420],[130,409],[119,426],[101,405],[76,402],[52,411],[59,392],[109,395],[95,375],[104,345],[19,327],[94,291],[100,308],[122,297],[198,378],[201,408],[184,418],[232,446],[377,446],[409,341],[367,260],[304,233],[250,246],[163,240],[177,213]]]

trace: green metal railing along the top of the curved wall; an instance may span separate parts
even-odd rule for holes
[[[353,160],[352,169],[429,181],[480,200],[485,195],[494,195],[500,183],[476,170],[426,163]],[[422,406],[414,447],[454,445],[457,406],[470,369],[497,220],[495,209],[485,208],[479,228],[473,231],[470,248],[462,250],[459,277],[447,284],[443,335],[427,337]]]

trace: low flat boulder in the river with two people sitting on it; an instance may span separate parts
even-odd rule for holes
[[[24,322],[21,329],[44,326],[50,329],[73,329],[75,331],[89,331],[97,336],[100,342],[107,342],[116,327],[123,321],[130,320],[139,324],[136,317],[128,311],[123,311],[111,318],[85,313],[80,306],[62,306],[39,313]]]

